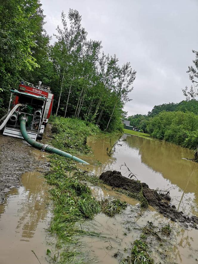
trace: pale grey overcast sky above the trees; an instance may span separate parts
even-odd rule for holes
[[[128,115],[147,114],[154,105],[184,100],[191,85],[188,66],[198,50],[198,0],[41,0],[49,35],[61,12],[76,9],[88,38],[101,40],[104,52],[137,71]]]

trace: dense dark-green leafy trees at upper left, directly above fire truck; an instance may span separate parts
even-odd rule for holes
[[[10,87],[17,87],[29,72],[39,68],[39,47],[44,36],[44,15],[39,0],[2,0],[0,5],[0,87],[1,107],[7,108]],[[42,43],[42,45],[41,45]],[[41,53],[41,52],[40,52]],[[30,79],[29,79],[30,80]],[[3,99],[3,100],[2,100]],[[0,113],[1,115],[3,113]]]

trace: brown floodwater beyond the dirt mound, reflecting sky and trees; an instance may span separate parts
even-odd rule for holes
[[[118,137],[114,136],[114,143]],[[124,134],[112,157],[106,154],[110,147],[108,137],[90,137],[88,144],[93,149],[94,158],[102,165],[89,166],[96,175],[114,169],[127,177],[120,165],[124,162],[142,182],[153,189],[171,191],[171,202],[185,213],[198,215],[198,164],[185,160],[193,151],[163,141],[149,140]],[[91,163],[91,162],[90,162]]]

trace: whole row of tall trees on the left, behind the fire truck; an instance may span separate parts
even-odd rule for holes
[[[77,10],[61,13],[62,25],[50,44],[38,0],[1,2],[0,115],[7,110],[11,87],[21,80],[42,81],[55,94],[55,115],[121,130],[122,109],[136,77],[130,63],[120,66],[116,55],[102,52],[101,41],[89,40]]]

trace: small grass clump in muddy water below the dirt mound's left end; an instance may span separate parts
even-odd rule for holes
[[[126,207],[127,207],[127,203],[122,202],[119,199],[116,200],[105,199],[101,201],[101,211],[110,217],[115,216],[115,214],[119,214],[121,211],[126,209]]]

